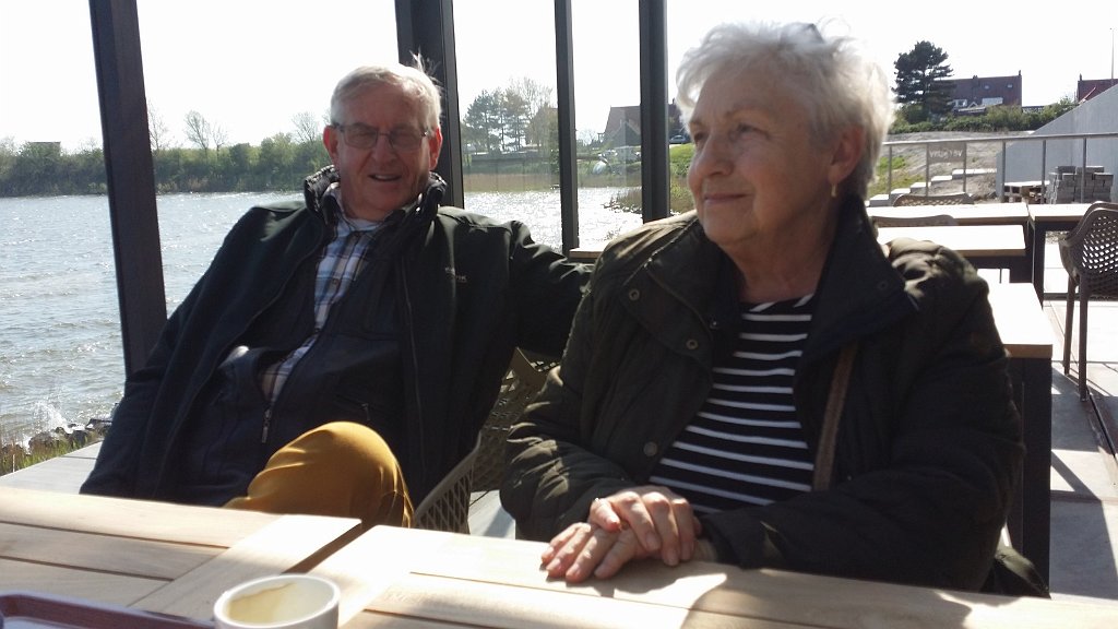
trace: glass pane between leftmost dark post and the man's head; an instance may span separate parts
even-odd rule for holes
[[[303,178],[329,166],[330,95],[354,67],[398,58],[396,13],[372,0],[139,0],[138,9],[173,308],[241,214],[301,195]]]

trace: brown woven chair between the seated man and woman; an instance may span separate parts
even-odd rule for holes
[[[413,516],[413,526],[470,533],[474,491],[492,491],[504,473],[504,442],[528,402],[536,396],[547,372],[558,359],[517,349],[501,383],[501,393],[477,434],[473,450],[435,486]]]

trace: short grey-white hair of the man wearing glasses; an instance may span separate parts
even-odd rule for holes
[[[419,105],[419,120],[426,130],[437,129],[443,115],[443,94],[435,79],[427,74],[423,59],[415,57],[415,66],[404,64],[385,64],[361,66],[347,74],[338,82],[330,97],[330,122],[341,124],[345,121],[345,104],[350,98],[370,87],[394,85],[415,98]]]

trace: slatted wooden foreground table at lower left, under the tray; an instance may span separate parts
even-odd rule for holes
[[[227,588],[305,572],[360,520],[0,487],[0,590],[197,620]]]

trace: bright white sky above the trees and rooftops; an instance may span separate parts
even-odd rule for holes
[[[294,131],[323,115],[353,67],[396,59],[392,0],[136,0],[151,118],[172,145],[201,113],[229,143]],[[637,0],[572,0],[576,128],[604,130],[610,106],[639,104]],[[667,0],[669,97],[686,48],[718,21],[821,21],[856,38],[892,82],[893,62],[920,40],[948,55],[954,77],[1022,75],[1023,104],[1073,97],[1076,82],[1114,76],[1118,9],[1080,0],[1030,24],[997,2],[964,15],[883,11],[834,0]],[[552,0],[455,0],[464,114],[483,90],[523,77],[555,86]],[[101,143],[87,0],[0,0],[0,142]]]

